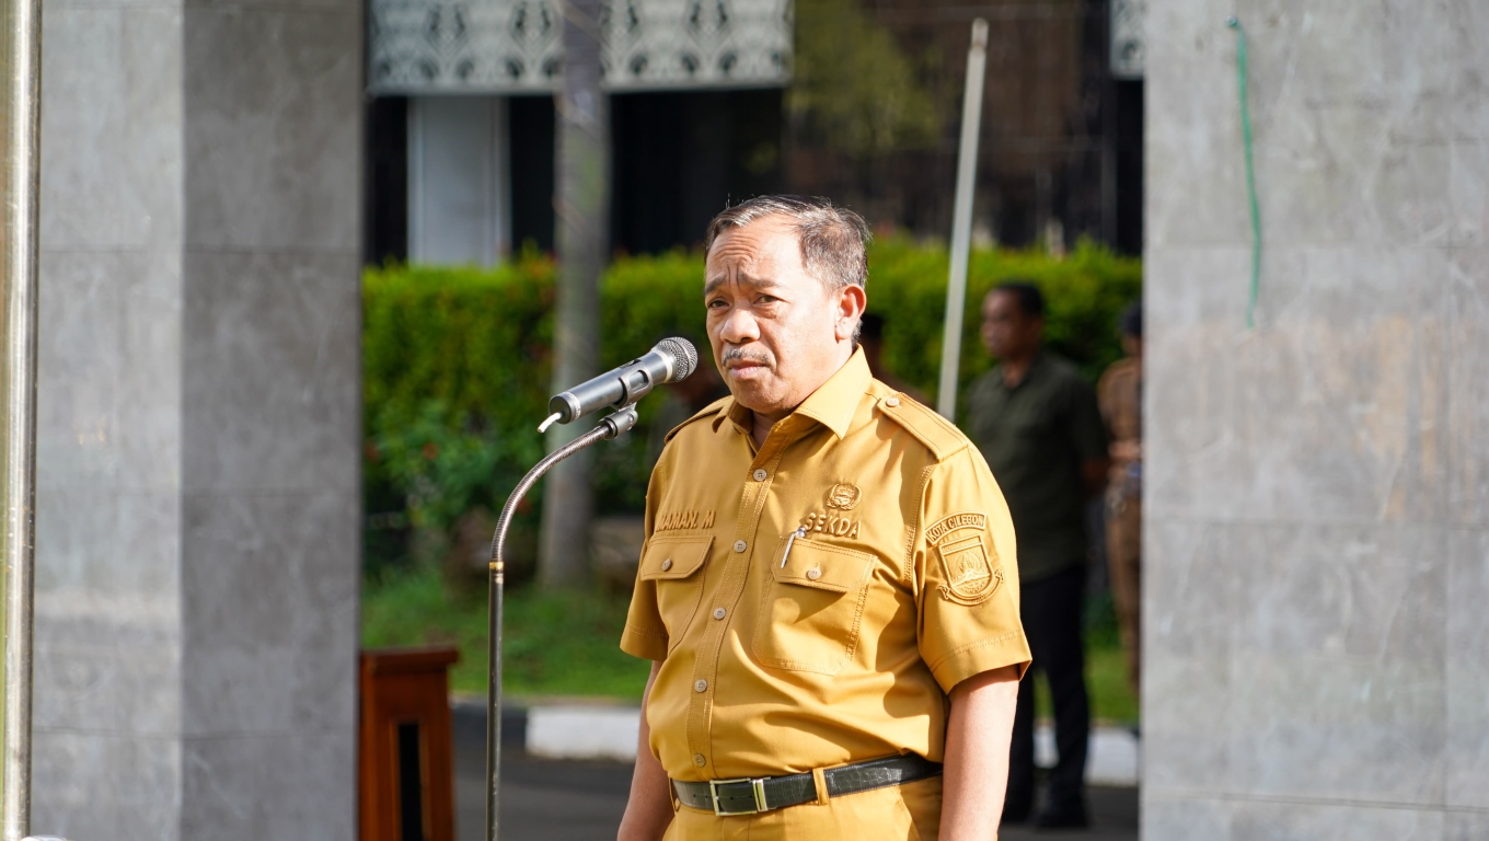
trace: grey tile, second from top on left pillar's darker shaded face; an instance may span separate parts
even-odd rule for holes
[[[188,488],[359,493],[357,265],[351,255],[186,256]]]

